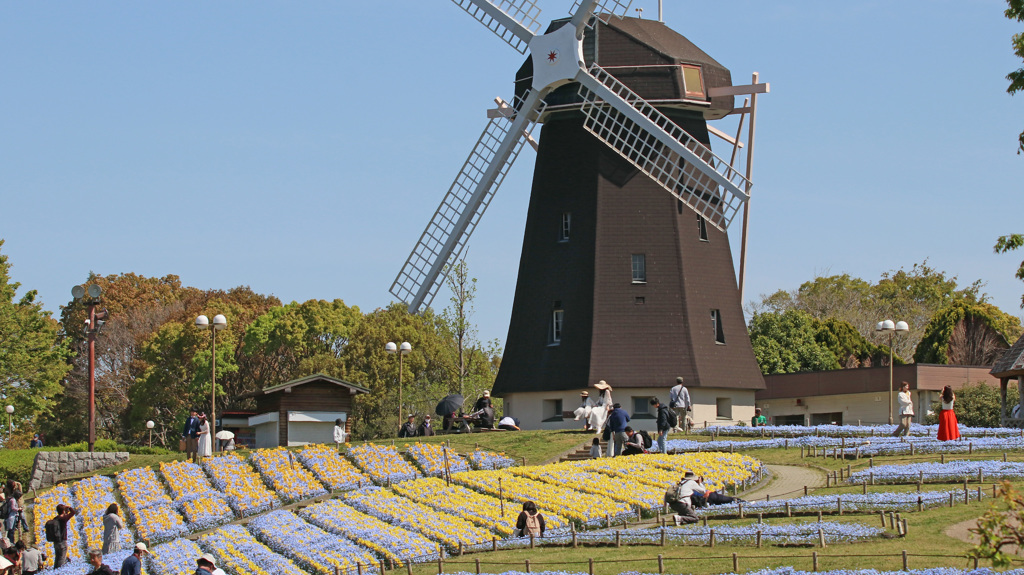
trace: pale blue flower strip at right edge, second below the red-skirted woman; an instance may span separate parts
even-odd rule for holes
[[[1024,477],[1024,462],[956,460],[945,463],[909,463],[902,466],[878,466],[860,470],[850,475],[850,483],[913,483],[918,481],[963,481],[978,475],[986,479],[1020,479]]]

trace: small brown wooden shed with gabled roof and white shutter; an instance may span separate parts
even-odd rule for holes
[[[247,394],[256,400],[256,414],[249,417],[256,447],[332,443],[336,419],[349,431],[352,398],[359,393],[370,390],[314,373]]]

